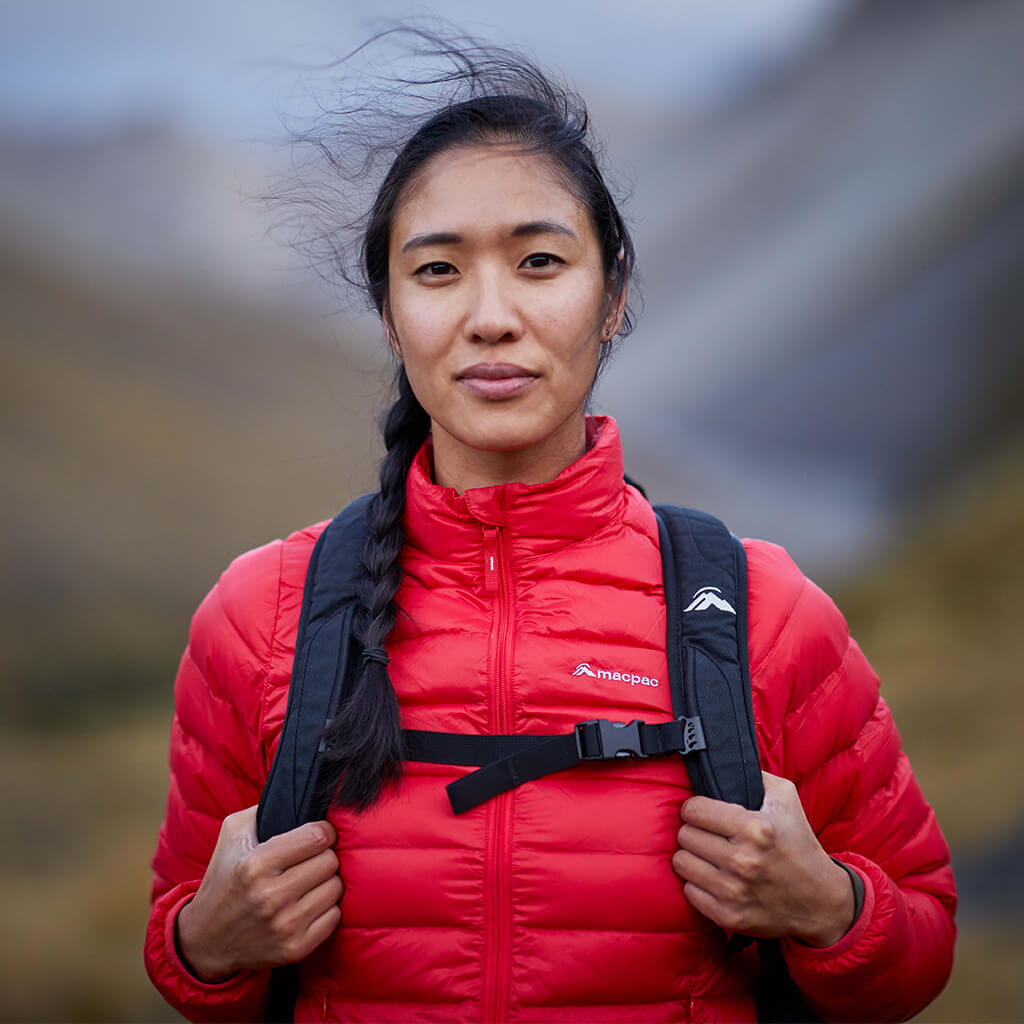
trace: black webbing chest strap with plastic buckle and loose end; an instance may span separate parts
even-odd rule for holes
[[[446,786],[452,810],[462,814],[500,793],[551,775],[581,761],[664,757],[705,750],[699,719],[673,722],[580,722],[572,732],[556,736],[468,735],[403,729],[407,761],[480,765]]]

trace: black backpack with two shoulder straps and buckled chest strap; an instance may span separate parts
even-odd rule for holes
[[[633,481],[629,481],[633,482]],[[370,534],[357,498],[328,524],[309,559],[281,741],[257,811],[262,843],[322,817],[321,737],[358,671],[353,636]],[[674,720],[580,722],[562,735],[467,735],[403,729],[412,761],[473,766],[449,784],[453,812],[580,761],[680,754],[694,793],[757,810],[764,799],[746,650],[746,556],[714,516],[654,507],[667,606],[669,685]],[[731,948],[750,939],[733,936]],[[818,1021],[785,970],[777,940],[760,940],[758,1018]],[[294,965],[271,976],[267,1020],[290,1021],[298,990]]]

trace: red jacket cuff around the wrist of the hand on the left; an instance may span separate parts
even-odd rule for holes
[[[183,882],[153,906],[145,939],[145,969],[160,994],[179,1014],[197,1022],[261,1020],[269,971],[239,971],[206,982],[178,954],[174,933],[178,913],[196,895],[200,882]]]

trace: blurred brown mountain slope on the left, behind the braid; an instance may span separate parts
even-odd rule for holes
[[[0,301],[3,697],[14,719],[74,719],[166,687],[230,558],[371,485],[382,364],[10,246]]]

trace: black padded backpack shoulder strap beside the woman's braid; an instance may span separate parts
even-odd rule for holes
[[[314,806],[321,736],[354,669],[352,627],[370,527],[364,495],[321,534],[309,559],[281,742],[256,812],[262,843],[323,813]]]

